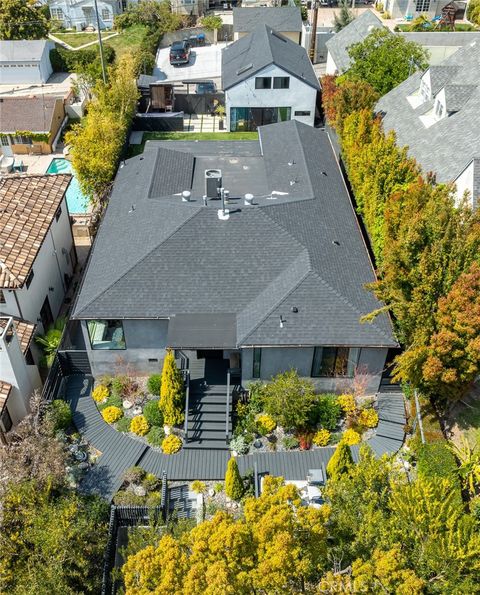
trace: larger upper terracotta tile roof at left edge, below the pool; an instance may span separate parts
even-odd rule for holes
[[[0,287],[21,287],[71,176],[9,176],[0,181]]]

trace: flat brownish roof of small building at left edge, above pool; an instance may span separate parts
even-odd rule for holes
[[[0,132],[50,132],[57,103],[63,103],[63,99],[55,95],[3,97],[0,101]],[[63,115],[61,117],[63,119]]]

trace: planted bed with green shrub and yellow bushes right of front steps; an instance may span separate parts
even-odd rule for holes
[[[270,383],[255,382],[235,405],[236,454],[309,450],[343,440],[359,444],[378,424],[374,398],[353,392],[317,394],[313,383],[291,370]]]

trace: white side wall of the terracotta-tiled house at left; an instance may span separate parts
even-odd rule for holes
[[[58,315],[65,297],[63,275],[64,273],[68,275],[73,273],[70,259],[73,237],[65,198],[61,203],[61,208],[62,214],[59,220],[53,220],[33,263],[34,276],[30,287],[27,289],[24,285],[21,289],[15,290],[19,307],[13,292],[5,292],[7,301],[3,310],[5,313],[37,323],[40,309],[48,295],[53,317]],[[67,252],[68,260],[62,249]],[[49,291],[49,287],[53,287],[53,291]],[[44,331],[40,323],[38,323],[38,331]]]

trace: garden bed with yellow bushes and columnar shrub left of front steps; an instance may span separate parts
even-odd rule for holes
[[[148,378],[131,370],[98,379],[92,398],[103,419],[119,432],[143,440],[164,454],[183,445],[184,387],[173,354],[168,352],[162,374]]]

